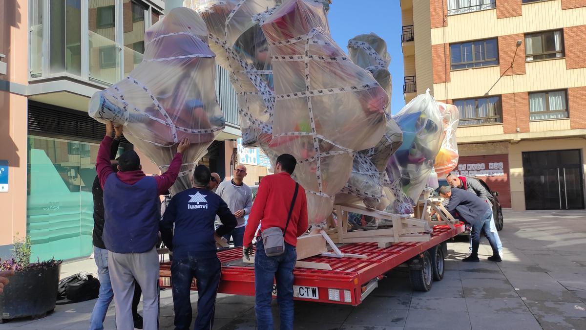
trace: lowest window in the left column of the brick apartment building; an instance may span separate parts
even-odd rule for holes
[[[502,102],[500,96],[479,97],[477,99],[454,100],[458,107],[460,122],[458,126],[502,123]]]

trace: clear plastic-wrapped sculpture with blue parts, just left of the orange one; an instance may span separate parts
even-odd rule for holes
[[[433,171],[442,144],[444,125],[438,105],[429,93],[418,95],[393,116],[403,131],[403,144],[387,165],[392,204],[399,214],[413,213],[413,207]]]

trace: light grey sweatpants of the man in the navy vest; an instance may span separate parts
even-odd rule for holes
[[[159,255],[156,248],[144,253],[108,251],[110,281],[116,302],[116,327],[133,330],[132,297],[134,280],[142,288],[144,330],[159,328]]]

